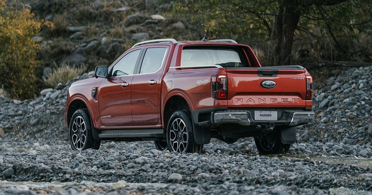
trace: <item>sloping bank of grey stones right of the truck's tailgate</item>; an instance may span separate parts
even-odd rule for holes
[[[299,127],[298,142],[371,143],[371,78],[372,67],[351,68],[315,90],[315,121]]]

